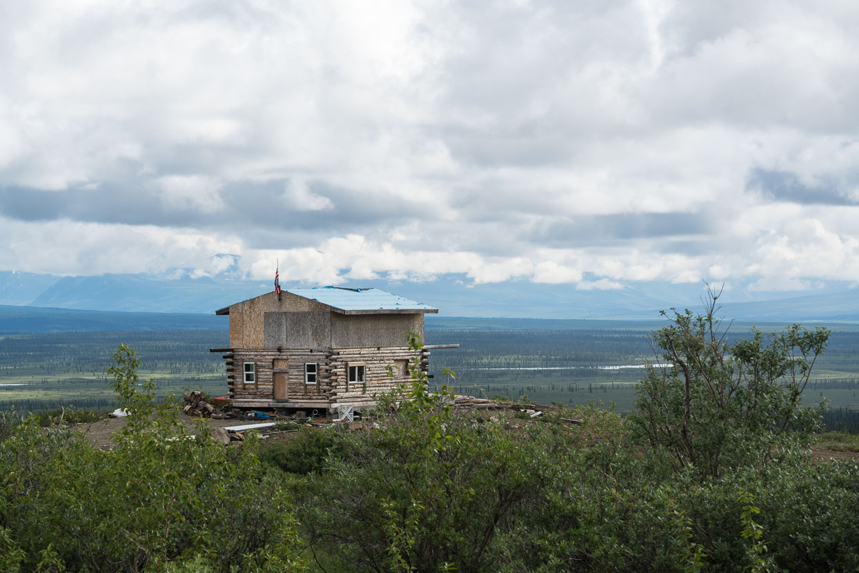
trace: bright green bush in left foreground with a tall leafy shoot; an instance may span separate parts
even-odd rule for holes
[[[150,381],[137,390],[131,349],[114,360],[131,415],[112,450],[32,417],[0,443],[3,570],[301,570],[287,499],[253,441],[223,448],[206,427],[195,439],[176,408],[155,405]]]

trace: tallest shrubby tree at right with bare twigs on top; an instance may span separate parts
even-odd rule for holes
[[[752,338],[729,344],[716,318],[720,295],[708,290],[703,315],[672,308],[671,324],[650,335],[656,363],[647,365],[631,416],[643,442],[703,476],[764,461],[778,443],[810,436],[823,405],[803,408],[801,393],[830,334],[822,326],[753,328]]]

